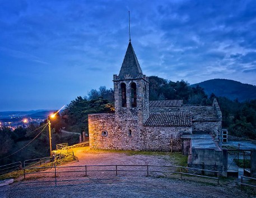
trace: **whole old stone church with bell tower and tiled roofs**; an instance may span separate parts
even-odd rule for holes
[[[217,100],[207,107],[185,105],[183,100],[150,101],[148,77],[142,73],[131,41],[113,81],[115,113],[89,115],[91,148],[188,154],[194,134],[207,134],[216,147],[221,146]]]

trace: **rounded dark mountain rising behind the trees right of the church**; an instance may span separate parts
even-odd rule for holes
[[[216,96],[225,96],[231,100],[238,98],[239,102],[256,99],[255,85],[243,84],[235,80],[212,79],[190,86],[197,85],[201,86],[208,96],[214,93]]]

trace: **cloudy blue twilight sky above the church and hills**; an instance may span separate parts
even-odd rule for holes
[[[128,11],[144,74],[256,85],[254,0],[0,0],[0,111],[58,109],[113,88]]]

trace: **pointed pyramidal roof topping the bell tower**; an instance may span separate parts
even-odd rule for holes
[[[130,41],[119,72],[119,79],[126,79],[125,76],[129,76],[129,78],[137,78],[139,74],[142,74],[141,66],[139,66],[138,59]]]

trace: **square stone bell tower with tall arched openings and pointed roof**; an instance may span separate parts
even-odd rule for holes
[[[142,73],[131,41],[119,75],[114,75],[113,81],[117,117],[145,123],[149,114],[148,77]]]

